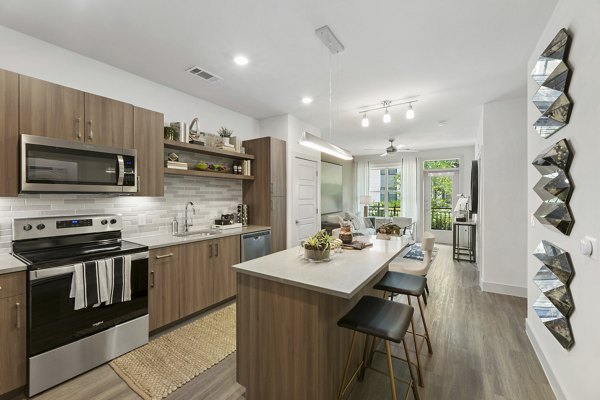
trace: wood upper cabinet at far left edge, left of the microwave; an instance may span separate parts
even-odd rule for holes
[[[19,75],[0,70],[0,197],[19,193]]]

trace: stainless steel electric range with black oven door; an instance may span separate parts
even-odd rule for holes
[[[13,254],[27,264],[28,395],[148,342],[148,248],[121,239],[120,215],[13,220]],[[131,260],[131,300],[75,310],[79,263]]]

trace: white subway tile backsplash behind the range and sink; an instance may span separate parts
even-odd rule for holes
[[[221,213],[235,213],[242,202],[242,182],[191,176],[165,176],[164,197],[102,194],[24,194],[0,198],[0,253],[10,251],[12,219],[24,217],[122,214],[123,236],[169,233],[173,217],[182,218],[185,204],[192,201],[196,227],[209,226]],[[146,224],[138,225],[138,215]],[[180,226],[183,221],[180,221]]]

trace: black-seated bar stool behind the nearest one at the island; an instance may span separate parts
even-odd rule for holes
[[[374,288],[377,290],[383,290],[384,299],[387,298],[388,292],[392,294],[392,299],[394,294],[406,295],[409,306],[412,306],[411,297],[414,296],[417,298],[417,303],[419,303],[419,310],[421,311],[421,320],[423,321],[423,328],[425,332],[424,334],[416,333],[415,319],[414,316],[411,316],[410,333],[412,334],[413,342],[415,344],[415,352],[417,354],[417,374],[419,376],[419,386],[421,387],[425,386],[423,383],[423,371],[421,369],[421,361],[419,354],[419,349],[423,345],[423,342],[421,341],[421,346],[417,345],[417,336],[421,337],[423,340],[426,341],[429,354],[433,354],[433,348],[431,347],[431,339],[429,337],[429,330],[427,329],[427,323],[425,322],[425,314],[423,313],[423,306],[421,305],[421,297],[425,296],[426,286],[427,278],[425,277],[395,271],[386,272],[383,278],[381,278],[381,280],[374,286]]]

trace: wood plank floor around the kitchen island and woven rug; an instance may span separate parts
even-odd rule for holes
[[[421,399],[554,399],[525,335],[526,300],[481,292],[476,267],[453,261],[449,246],[437,247],[439,253],[429,273],[431,296],[425,309],[434,354],[427,355],[426,347],[423,348],[425,387],[419,388]],[[411,340],[407,343],[412,347]],[[394,345],[397,355],[401,354],[400,349]],[[375,364],[379,369],[387,368],[381,355],[376,357]],[[395,364],[395,371],[401,378],[408,375],[401,363]],[[350,399],[390,399],[388,382],[386,377],[368,371]],[[398,389],[403,393],[405,387]],[[233,354],[174,392],[168,400],[236,400],[243,398],[242,393],[243,388],[235,381]],[[137,400],[139,397],[104,365],[35,399]]]

